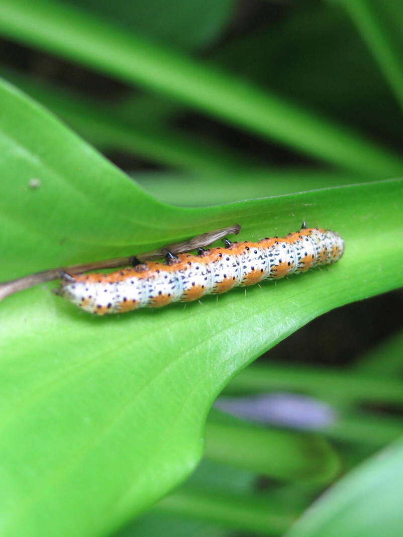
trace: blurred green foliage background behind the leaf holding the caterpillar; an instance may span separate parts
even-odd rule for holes
[[[0,37],[0,76],[160,201],[401,177],[398,1],[0,0]],[[401,535],[401,441],[371,457],[402,432],[402,328],[398,289],[263,354],[208,416],[189,480],[108,534]]]

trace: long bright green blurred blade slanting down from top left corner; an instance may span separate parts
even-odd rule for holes
[[[367,177],[397,175],[400,157],[241,78],[48,0],[3,0],[0,32]]]

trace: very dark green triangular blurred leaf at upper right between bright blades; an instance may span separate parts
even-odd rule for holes
[[[277,24],[229,42],[213,58],[287,99],[400,142],[399,108],[339,3],[293,5]]]

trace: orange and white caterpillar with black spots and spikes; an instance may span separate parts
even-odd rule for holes
[[[198,248],[197,255],[167,251],[165,262],[139,263],[109,274],[63,273],[56,294],[97,315],[160,308],[330,265],[344,252],[340,235],[319,228],[303,227],[258,242],[224,242],[224,247]]]

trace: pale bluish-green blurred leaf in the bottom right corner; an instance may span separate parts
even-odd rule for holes
[[[315,502],[287,537],[399,537],[403,441],[384,449]]]

